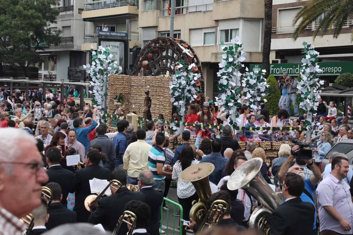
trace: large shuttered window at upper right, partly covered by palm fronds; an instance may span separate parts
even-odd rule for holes
[[[277,33],[293,33],[295,26],[299,24],[298,21],[297,24],[293,26],[293,20],[299,11],[300,7],[279,9],[277,17]]]

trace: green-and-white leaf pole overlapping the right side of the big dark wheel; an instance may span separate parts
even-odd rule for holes
[[[172,95],[170,101],[177,107],[180,115],[179,131],[183,132],[183,122],[187,113],[186,106],[198,97],[201,74],[197,73],[198,68],[194,63],[187,66],[184,60],[180,60],[174,68],[175,74],[172,77],[172,81],[169,82],[169,94]],[[177,129],[174,124],[173,129]]]

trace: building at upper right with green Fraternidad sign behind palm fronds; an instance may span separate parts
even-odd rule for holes
[[[288,74],[297,76],[303,56],[302,44],[307,42],[313,44],[320,52],[319,65],[323,69],[321,78],[326,80],[328,85],[341,73],[353,73],[353,46],[351,44],[353,20],[346,21],[337,39],[333,39],[332,33],[327,32],[323,37],[317,36],[314,41],[312,35],[319,21],[322,20],[323,13],[306,27],[296,41],[293,41],[293,20],[306,2],[273,0],[270,74],[277,76],[288,72]]]

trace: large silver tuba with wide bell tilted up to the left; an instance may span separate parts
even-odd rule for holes
[[[227,187],[229,190],[243,188],[261,204],[252,212],[249,227],[268,234],[271,214],[282,204],[282,201],[263,178],[260,172],[261,166],[262,159],[259,157],[244,162],[232,173]]]

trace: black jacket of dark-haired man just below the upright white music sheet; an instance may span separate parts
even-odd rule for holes
[[[49,167],[47,174],[49,176],[48,183],[55,182],[61,187],[62,200],[61,203],[67,207],[67,195],[73,185],[73,172],[62,168],[62,166]]]

